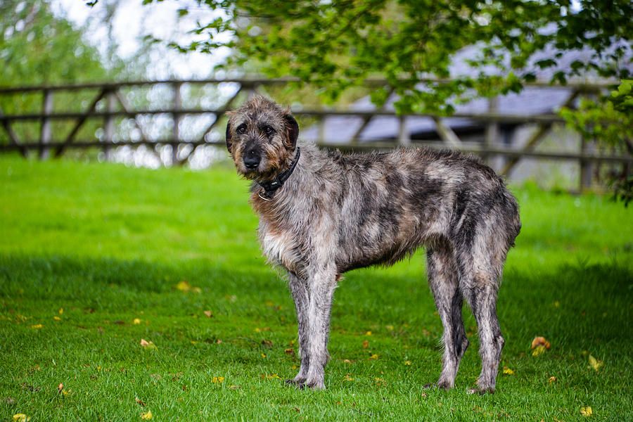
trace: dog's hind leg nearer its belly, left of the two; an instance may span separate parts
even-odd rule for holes
[[[459,362],[468,347],[461,319],[462,295],[457,266],[449,245],[435,245],[435,248],[428,250],[427,271],[428,283],[444,326],[444,356],[437,386],[449,389],[455,385]]]

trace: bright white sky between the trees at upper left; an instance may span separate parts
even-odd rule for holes
[[[101,0],[89,7],[83,0],[50,0],[51,9],[77,25],[89,25],[89,42],[105,55],[108,41],[108,26],[98,19],[105,13],[105,4],[111,0]],[[178,18],[177,10],[188,6],[190,14]],[[196,20],[212,19],[214,12],[196,6],[194,1],[166,0],[143,6],[141,0],[121,0],[113,20],[113,37],[119,48],[118,56],[129,58],[140,48],[141,39],[147,34],[158,39],[168,39],[184,43],[188,39],[187,30],[195,26]],[[169,77],[203,78],[210,76],[210,70],[221,62],[228,51],[219,50],[213,54],[180,54],[172,49],[158,47],[151,53],[151,68],[146,75],[151,79]]]

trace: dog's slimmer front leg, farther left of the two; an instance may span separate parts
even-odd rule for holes
[[[290,293],[295,301],[295,309],[297,311],[297,322],[299,326],[299,357],[301,366],[299,373],[295,378],[286,380],[288,384],[302,385],[305,383],[309,368],[309,328],[308,328],[308,309],[309,309],[309,290],[305,279],[301,279],[292,273],[288,273],[288,285]]]

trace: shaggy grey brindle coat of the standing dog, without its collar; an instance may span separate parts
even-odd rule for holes
[[[333,292],[340,275],[390,265],[426,246],[428,281],[444,326],[441,388],[452,388],[468,347],[466,298],[478,323],[482,371],[472,391],[494,392],[504,338],[497,290],[520,231],[518,205],[490,167],[424,148],[343,155],[300,145],[295,170],[270,200],[262,187],[292,164],[298,124],[288,110],[252,98],[232,112],[226,146],[252,179],[250,202],[270,262],[288,271],[301,366],[288,383],[324,388]],[[258,183],[259,182],[259,183]]]

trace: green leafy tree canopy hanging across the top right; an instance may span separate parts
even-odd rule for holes
[[[152,3],[155,0],[144,0]],[[255,61],[271,77],[294,76],[329,99],[368,77],[388,86],[373,93],[382,103],[393,90],[400,112],[452,111],[449,98],[518,91],[535,70],[557,67],[565,51],[585,49],[588,60],[556,70],[568,77],[629,76],[633,4],[617,1],[532,0],[198,0],[218,11],[192,31],[200,39],[184,50],[234,49],[229,64]],[[188,13],[183,8],[181,13]],[[471,75],[451,75],[453,56],[477,49]],[[497,70],[491,72],[490,68]],[[474,75],[474,76],[473,76]],[[452,82],[429,83],[424,77]]]

